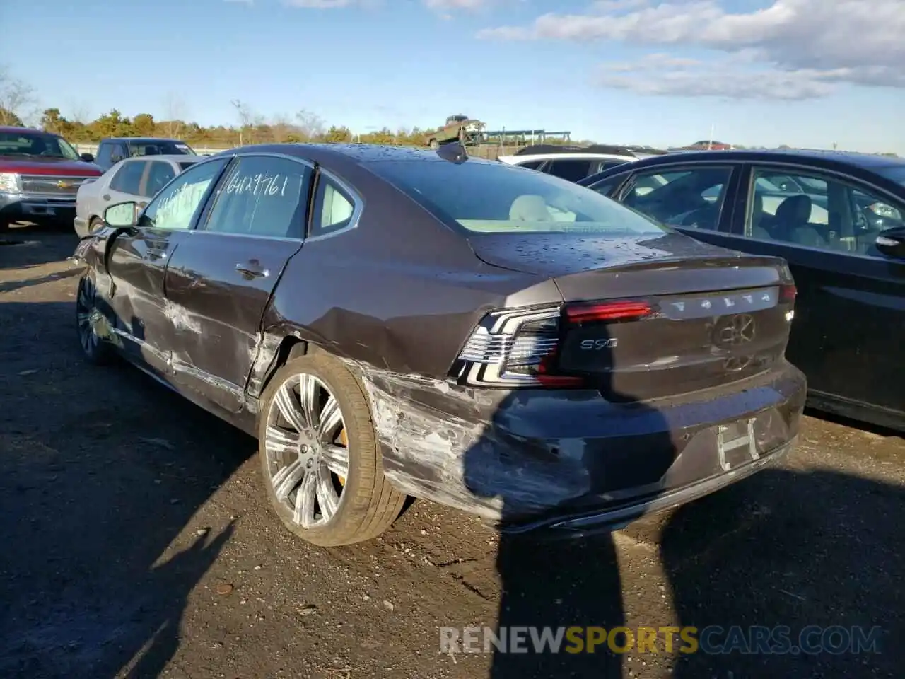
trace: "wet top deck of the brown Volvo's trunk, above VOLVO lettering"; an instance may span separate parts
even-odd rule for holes
[[[665,234],[475,234],[485,263],[556,282],[567,301],[776,284],[785,264]],[[606,293],[606,295],[605,295]]]

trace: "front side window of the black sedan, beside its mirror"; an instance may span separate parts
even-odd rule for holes
[[[752,178],[745,224],[750,238],[882,256],[877,235],[903,225],[905,207],[836,177],[755,168]]]

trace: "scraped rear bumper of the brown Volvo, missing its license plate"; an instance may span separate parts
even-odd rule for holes
[[[617,528],[734,483],[793,447],[806,393],[786,362],[733,385],[635,404],[357,368],[389,481],[510,532]]]

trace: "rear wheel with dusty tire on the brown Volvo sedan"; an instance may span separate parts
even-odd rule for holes
[[[307,416],[303,390],[313,404]],[[327,353],[291,358],[276,371],[262,394],[258,441],[271,506],[303,540],[321,547],[370,540],[402,511],[406,496],[384,476],[367,396]]]

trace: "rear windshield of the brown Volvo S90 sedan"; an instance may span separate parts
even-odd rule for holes
[[[504,163],[381,160],[369,167],[433,215],[470,232],[670,231],[583,186]]]

